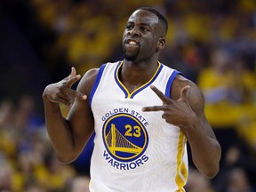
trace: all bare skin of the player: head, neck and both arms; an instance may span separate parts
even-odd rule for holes
[[[124,29],[124,64],[119,78],[131,93],[155,74],[159,53],[165,46],[166,28],[153,12],[132,13]],[[94,131],[89,100],[99,68],[87,71],[83,78],[72,68],[69,76],[49,84],[43,93],[47,132],[62,163],[70,163],[83,151]],[[80,80],[76,91],[72,85]],[[179,126],[191,147],[193,162],[199,172],[212,178],[219,172],[220,144],[204,116],[204,96],[196,84],[183,76],[173,83],[171,98],[152,85],[152,92],[163,100],[162,106],[145,106],[144,112],[164,111],[168,124]],[[61,116],[59,103],[71,106],[67,119]]]

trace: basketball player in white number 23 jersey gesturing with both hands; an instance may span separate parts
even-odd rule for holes
[[[76,91],[75,68],[44,90],[47,131],[61,162],[74,161],[95,132],[91,192],[184,191],[187,140],[201,173],[212,178],[219,171],[220,144],[202,93],[158,61],[167,28],[156,10],[136,10],[124,30],[123,61],[89,70]],[[59,103],[72,105],[67,119]]]

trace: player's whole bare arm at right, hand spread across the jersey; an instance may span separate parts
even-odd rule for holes
[[[162,117],[165,121],[179,126],[187,137],[196,168],[206,177],[213,178],[219,172],[221,149],[204,116],[204,96],[196,84],[183,77],[175,79],[172,87],[174,96],[171,99],[152,86],[152,90],[163,100],[163,106],[145,107],[143,110],[164,111]]]

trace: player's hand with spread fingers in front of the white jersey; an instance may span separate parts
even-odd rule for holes
[[[188,124],[188,119],[192,116],[196,116],[194,111],[189,105],[188,91],[190,86],[183,87],[180,91],[179,100],[172,100],[160,92],[154,85],[150,88],[156,92],[156,95],[163,101],[162,106],[144,107],[142,111],[164,111],[163,118],[166,123],[174,124],[179,127],[183,127]]]

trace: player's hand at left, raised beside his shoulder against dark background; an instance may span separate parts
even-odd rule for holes
[[[71,106],[75,98],[86,100],[87,96],[81,92],[76,92],[71,89],[71,86],[81,78],[80,75],[76,75],[76,68],[71,68],[69,76],[61,80],[56,84],[49,84],[43,93],[43,98],[49,100],[52,103],[63,103],[67,106]]]

